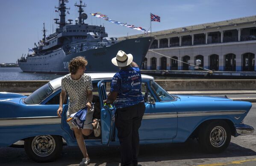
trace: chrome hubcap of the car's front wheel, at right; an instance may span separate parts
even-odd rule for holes
[[[214,147],[221,147],[226,142],[227,133],[226,130],[221,126],[216,126],[212,129],[210,134],[210,143]]]

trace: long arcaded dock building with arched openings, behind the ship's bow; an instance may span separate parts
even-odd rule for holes
[[[167,29],[151,35],[155,37],[150,47],[154,52],[147,52],[141,69],[201,70],[199,67],[204,67],[215,71],[256,71],[256,15]],[[143,36],[150,33],[128,38]]]

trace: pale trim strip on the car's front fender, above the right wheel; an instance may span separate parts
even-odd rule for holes
[[[178,112],[178,117],[244,114],[245,110]]]

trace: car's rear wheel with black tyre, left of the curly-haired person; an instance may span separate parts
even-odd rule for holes
[[[50,162],[59,157],[62,151],[62,137],[40,135],[29,137],[24,142],[26,154],[36,162]]]

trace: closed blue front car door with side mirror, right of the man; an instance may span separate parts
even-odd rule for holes
[[[139,129],[140,140],[173,139],[177,135],[177,111],[173,101],[162,102],[150,80],[142,80],[146,110]]]

